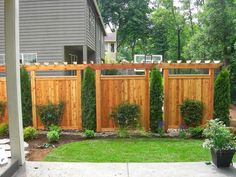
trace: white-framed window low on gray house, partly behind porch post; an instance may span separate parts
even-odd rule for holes
[[[20,53],[20,64],[36,62],[37,53]],[[5,54],[0,54],[0,64],[5,64]]]

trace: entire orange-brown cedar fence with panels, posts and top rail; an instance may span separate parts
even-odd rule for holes
[[[111,131],[115,126],[110,119],[112,109],[123,101],[141,106],[141,124],[150,127],[150,69],[163,69],[164,77],[164,123],[165,129],[178,128],[182,123],[179,105],[185,98],[194,98],[205,104],[204,124],[212,118],[214,71],[221,64],[89,64],[89,65],[28,65],[31,76],[33,126],[42,129],[37,116],[37,105],[65,102],[65,112],[61,126],[63,129],[82,129],[81,118],[81,71],[90,66],[96,70],[96,114],[97,131]],[[104,69],[144,69],[145,75],[105,76]],[[169,74],[170,69],[208,69],[208,74]],[[4,71],[0,66],[0,71]],[[36,76],[37,71],[77,71],[76,76]],[[0,101],[6,101],[6,80],[0,79]],[[1,118],[7,122],[7,111]]]

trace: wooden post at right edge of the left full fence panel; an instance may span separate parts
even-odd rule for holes
[[[78,101],[78,103],[77,103],[77,105],[78,105],[78,112],[77,112],[77,116],[78,116],[78,129],[79,130],[82,130],[82,105],[81,105],[81,70],[77,70],[77,72],[76,72],[76,74],[77,74],[77,90],[78,90],[78,99],[77,99],[77,101]]]

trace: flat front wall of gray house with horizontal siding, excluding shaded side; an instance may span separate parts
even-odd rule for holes
[[[4,12],[0,0],[0,53],[4,52]],[[20,0],[20,52],[38,61],[63,61],[64,46],[85,45],[84,0]]]

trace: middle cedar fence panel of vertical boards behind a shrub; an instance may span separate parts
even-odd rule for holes
[[[136,103],[141,108],[141,124],[149,129],[147,117],[148,97],[144,76],[101,76],[101,130],[113,130],[115,125],[110,118],[112,109],[122,102]]]

